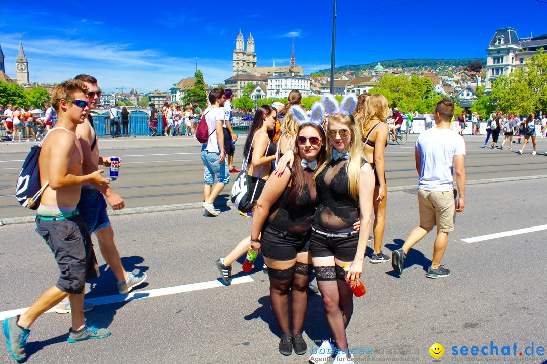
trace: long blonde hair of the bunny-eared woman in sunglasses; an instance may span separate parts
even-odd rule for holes
[[[366,161],[363,154],[363,149],[361,148],[361,129],[357,125],[353,115],[341,114],[340,112],[336,114],[329,115],[329,121],[327,122],[327,131],[329,130],[330,123],[340,123],[346,126],[350,130],[351,134],[351,144],[350,150],[348,150],[348,160],[346,164],[346,173],[350,180],[348,185],[348,192],[350,196],[359,201],[359,172],[363,162]],[[317,176],[321,173],[325,167],[330,163],[333,158],[333,146],[327,143],[327,155],[325,162],[316,170],[313,175],[313,182],[317,183]]]

